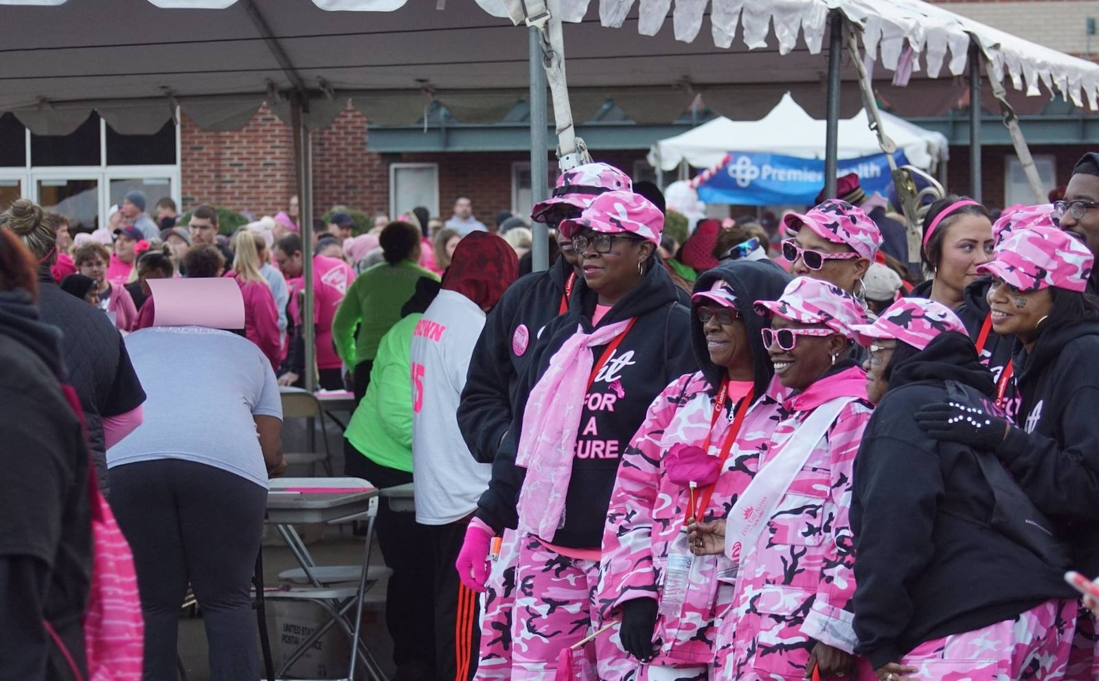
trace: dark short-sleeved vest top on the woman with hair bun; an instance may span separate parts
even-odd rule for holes
[[[68,383],[76,389],[88,427],[88,448],[96,461],[99,487],[107,494],[104,416],[119,416],[145,402],[137,373],[122,336],[110,319],[87,302],[63,291],[49,270],[38,271],[42,321],[62,332],[62,359]]]

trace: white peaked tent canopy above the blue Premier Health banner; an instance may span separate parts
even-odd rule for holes
[[[933,169],[946,159],[948,145],[942,133],[884,111],[880,116],[886,134],[912,165]],[[824,121],[810,116],[787,93],[759,121],[719,118],[681,135],[660,139],[650,149],[648,163],[662,170],[674,170],[682,161],[695,168],[712,168],[733,150],[824,158]],[[837,150],[841,159],[881,153],[877,135],[867,125],[865,110],[840,121]]]

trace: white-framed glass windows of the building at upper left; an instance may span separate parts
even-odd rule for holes
[[[30,155],[27,155],[30,149]],[[166,123],[152,135],[121,135],[92,113],[69,135],[35,135],[15,116],[0,116],[0,210],[27,198],[67,216],[73,233],[107,225],[111,205],[133,190],[146,210],[180,200],[179,130]]]

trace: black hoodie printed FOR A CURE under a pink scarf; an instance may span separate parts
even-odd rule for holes
[[[603,367],[585,398],[577,436],[577,454],[565,500],[564,525],[547,542],[575,548],[596,548],[602,542],[619,454],[641,426],[648,405],[673,380],[696,370],[691,354],[688,309],[678,302],[678,287],[663,267],[650,267],[641,283],[618,302],[600,326],[637,317],[636,323]],[[597,294],[577,279],[566,314],[550,322],[534,346],[520,379],[518,394],[529,394],[550,365],[550,358],[576,333],[590,332]],[[606,346],[591,348],[601,356]],[[613,386],[618,383],[618,386]],[[619,388],[618,391],[614,388]],[[596,398],[595,395],[598,395]],[[613,410],[589,409],[613,395]],[[515,527],[515,503],[525,470],[514,465],[525,401],[514,404],[512,425],[492,461],[492,479],[478,503],[477,516],[497,532]],[[592,432],[587,432],[591,425]]]

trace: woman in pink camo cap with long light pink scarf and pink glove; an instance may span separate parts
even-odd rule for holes
[[[689,312],[655,256],[663,227],[653,203],[621,190],[560,223],[582,280],[568,311],[532,338],[519,388],[530,397],[517,404],[457,561],[463,582],[482,591],[490,539],[518,527],[515,681],[552,676],[559,654],[596,632],[591,595],[619,457],[653,399],[695,369]],[[633,666],[615,638],[601,634],[593,655],[577,654],[584,678]]]

